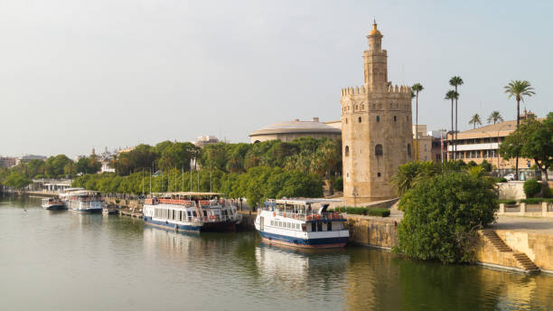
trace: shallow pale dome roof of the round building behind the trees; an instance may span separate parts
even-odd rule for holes
[[[249,134],[250,137],[267,134],[294,134],[294,133],[326,133],[341,134],[340,128],[328,126],[319,121],[285,121],[271,124]]]

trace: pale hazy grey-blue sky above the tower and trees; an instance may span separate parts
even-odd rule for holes
[[[248,142],[269,124],[340,118],[363,83],[373,19],[389,80],[421,83],[419,124],[459,128],[521,103],[553,110],[551,1],[0,0],[0,155],[89,155],[213,135]],[[415,102],[413,102],[413,105]]]

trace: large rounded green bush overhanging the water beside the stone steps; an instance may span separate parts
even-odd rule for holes
[[[445,263],[470,261],[476,230],[494,221],[492,184],[464,172],[438,174],[400,199],[398,248],[417,259]]]

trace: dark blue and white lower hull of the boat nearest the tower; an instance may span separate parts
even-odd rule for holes
[[[258,231],[261,235],[261,240],[268,244],[286,245],[303,249],[333,249],[344,247],[349,240],[349,237],[333,237],[320,239],[298,239],[286,235],[269,233],[266,231]]]

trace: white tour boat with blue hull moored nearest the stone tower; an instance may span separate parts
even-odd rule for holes
[[[327,212],[328,199],[268,200],[254,221],[264,242],[295,248],[329,249],[347,244],[350,232],[339,212]]]

